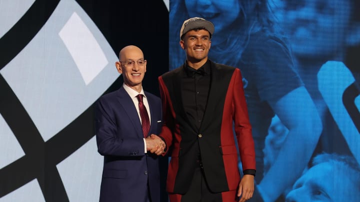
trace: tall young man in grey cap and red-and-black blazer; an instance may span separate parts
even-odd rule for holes
[[[185,20],[180,46],[186,62],[158,78],[164,119],[160,137],[171,151],[170,202],[234,202],[240,196],[243,202],[254,191],[255,152],[241,73],[207,58],[213,31],[203,18]]]

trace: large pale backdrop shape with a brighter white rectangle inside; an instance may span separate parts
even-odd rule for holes
[[[0,74],[46,142],[116,80],[119,74],[112,62],[117,60],[76,1],[60,0],[38,33]]]

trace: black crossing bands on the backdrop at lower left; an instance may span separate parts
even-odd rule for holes
[[[118,85],[118,82],[114,82],[109,89],[115,88],[115,85]],[[87,108],[47,142],[43,142],[35,125],[2,76],[0,88],[1,95],[5,95],[0,100],[0,113],[25,153],[25,156],[0,170],[0,198],[37,179],[46,202],[68,202],[56,165],[94,136],[93,106]]]

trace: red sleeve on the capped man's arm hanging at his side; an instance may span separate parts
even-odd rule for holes
[[[240,70],[235,69],[234,74],[234,102],[232,103],[232,116],[234,120],[234,129],[242,163],[242,170],[255,170],[254,142],[252,139],[251,125],[248,118]]]

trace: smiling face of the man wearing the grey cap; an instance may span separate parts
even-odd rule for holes
[[[205,29],[190,30],[180,40],[180,46],[186,53],[187,63],[195,69],[207,61],[210,45],[210,33]]]

